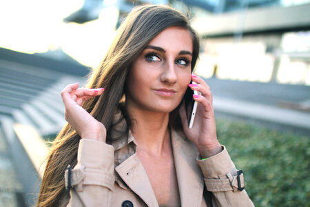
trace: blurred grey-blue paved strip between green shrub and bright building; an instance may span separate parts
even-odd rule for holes
[[[265,122],[310,135],[310,86],[205,79],[216,114]]]

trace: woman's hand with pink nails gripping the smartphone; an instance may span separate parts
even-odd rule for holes
[[[188,128],[185,103],[182,103],[179,113],[185,135],[196,144],[201,157],[207,158],[222,151],[222,147],[216,136],[212,93],[209,86],[202,78],[192,75],[192,81],[197,84],[190,84],[189,87],[192,90],[197,90],[201,95],[198,97],[194,96],[194,100],[198,102],[198,106],[194,124],[191,129]]]

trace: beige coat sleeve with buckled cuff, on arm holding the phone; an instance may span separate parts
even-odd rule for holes
[[[238,186],[245,186],[243,174],[237,176],[238,170],[225,146],[222,152],[208,159],[198,160],[198,164],[203,172],[207,190],[214,195],[213,206],[254,206],[247,192],[238,190]]]

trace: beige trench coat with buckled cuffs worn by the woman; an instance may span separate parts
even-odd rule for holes
[[[245,190],[237,189],[237,170],[224,146],[202,161],[183,132],[172,129],[171,139],[181,206],[254,206]],[[81,139],[77,159],[70,197],[61,206],[158,206],[131,133],[112,145]],[[68,171],[65,180],[67,184]],[[243,175],[240,184],[244,186]]]

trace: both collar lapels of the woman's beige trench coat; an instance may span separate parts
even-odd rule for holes
[[[180,132],[172,130],[171,138],[181,205],[200,206],[204,181],[196,161],[198,150]],[[127,145],[122,142],[123,144],[117,145],[115,151],[116,172],[147,206],[158,206],[145,168],[136,155],[136,141],[131,132],[127,138]]]

